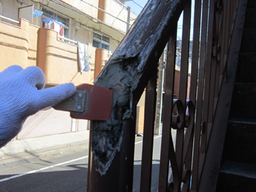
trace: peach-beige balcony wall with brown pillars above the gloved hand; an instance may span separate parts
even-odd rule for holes
[[[14,64],[22,68],[38,66],[45,74],[46,84],[93,84],[95,75],[109,60],[108,50],[88,43],[90,70],[81,73],[77,45],[58,39],[52,29],[33,26],[25,19],[19,21],[19,26],[0,21],[0,71]],[[96,61],[99,67],[95,74]]]

